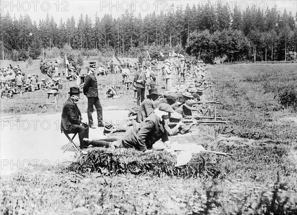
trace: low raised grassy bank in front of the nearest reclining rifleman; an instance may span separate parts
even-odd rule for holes
[[[216,177],[220,173],[215,166],[207,165],[201,155],[193,155],[191,161],[181,167],[175,167],[176,157],[165,151],[143,153],[134,149],[111,150],[93,148],[81,154],[70,169],[79,173],[100,172],[106,175],[137,174],[156,176],[198,177],[206,175]]]

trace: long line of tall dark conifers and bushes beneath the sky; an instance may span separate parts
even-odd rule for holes
[[[170,6],[164,13],[141,17],[126,11],[115,19],[111,14],[95,21],[81,14],[57,24],[47,14],[37,24],[30,16],[11,18],[7,12],[0,17],[1,54],[5,58],[36,59],[42,49],[63,49],[65,45],[82,52],[113,51],[116,55],[137,57],[138,50],[153,47],[168,54],[176,51],[213,62],[292,60],[297,51],[297,14],[281,13],[276,6],[261,10],[255,6],[246,10],[227,4],[216,7],[189,4]],[[3,52],[2,52],[3,51]]]

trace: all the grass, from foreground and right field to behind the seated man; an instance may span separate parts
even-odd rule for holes
[[[202,128],[198,136],[179,138],[180,143],[198,143],[208,150],[234,154],[233,157],[215,156],[211,165],[199,163],[203,171],[198,177],[165,174],[160,177],[152,172],[116,174],[123,168],[121,163],[113,167],[113,172],[108,172],[110,167],[96,165],[98,157],[93,157],[92,162],[87,157],[81,163],[59,168],[2,176],[1,214],[296,214],[297,117],[294,101],[288,108],[281,104],[286,93],[294,99],[294,92],[288,89],[297,89],[296,66],[296,63],[239,64],[217,65],[211,69],[215,96],[226,104],[220,112],[232,121],[217,131],[257,141],[249,144],[245,139],[220,139]],[[119,74],[115,77],[121,80]],[[119,104],[132,107],[135,105],[133,94],[133,91],[121,90],[120,99],[104,100],[101,92],[100,99],[103,107]],[[34,107],[43,102],[45,92],[27,95],[24,94],[19,103],[9,99],[4,100],[3,105],[1,100],[1,115],[61,111],[62,101],[67,97],[66,91],[63,92],[63,99],[55,110]],[[80,102],[82,110],[86,110],[86,102],[86,98]],[[11,107],[13,110],[9,110]],[[92,152],[93,149],[88,149],[88,153]],[[155,154],[162,158],[161,154]],[[123,152],[123,157],[129,157],[132,163],[151,156],[154,155],[140,153],[135,157]],[[200,157],[204,161],[210,159],[208,154]],[[158,163],[161,166],[165,161],[160,159]],[[94,168],[81,171],[84,165]],[[210,174],[213,169],[215,177]]]

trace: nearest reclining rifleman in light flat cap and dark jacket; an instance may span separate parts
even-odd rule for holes
[[[157,109],[154,109],[148,118],[141,124],[140,129],[136,129],[129,135],[124,136],[120,140],[116,139],[101,139],[101,140],[86,140],[87,145],[95,147],[111,147],[111,148],[135,148],[139,151],[147,151],[152,148],[152,145],[161,139],[163,142],[168,141],[168,136],[165,130],[164,120],[170,117],[170,113],[174,112],[173,108],[162,103]]]

